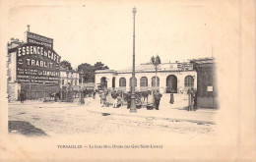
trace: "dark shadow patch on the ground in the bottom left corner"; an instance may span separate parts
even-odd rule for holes
[[[22,134],[22,135],[46,135],[40,129],[35,128],[29,122],[24,121],[8,121],[8,131],[11,134]]]

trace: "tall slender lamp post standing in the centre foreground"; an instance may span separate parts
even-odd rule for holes
[[[131,108],[130,113],[136,113],[135,105],[135,14],[137,12],[136,8],[133,8],[133,73],[132,73],[132,94],[131,94]]]

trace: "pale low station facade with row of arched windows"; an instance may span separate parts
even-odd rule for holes
[[[132,69],[120,71],[96,71],[96,89],[108,88],[130,91]],[[190,87],[197,87],[197,72],[193,65],[186,63],[164,63],[158,66],[157,80],[156,69],[152,64],[142,64],[135,68],[135,89],[145,91],[157,88],[162,93],[183,93]]]

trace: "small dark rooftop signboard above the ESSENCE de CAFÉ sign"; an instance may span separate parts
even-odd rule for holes
[[[53,39],[27,31],[27,42],[53,48]]]

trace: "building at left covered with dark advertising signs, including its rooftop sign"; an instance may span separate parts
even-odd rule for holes
[[[11,38],[7,44],[7,93],[18,100],[23,91],[27,99],[49,97],[59,91],[60,56],[53,39],[26,31],[26,40]]]

